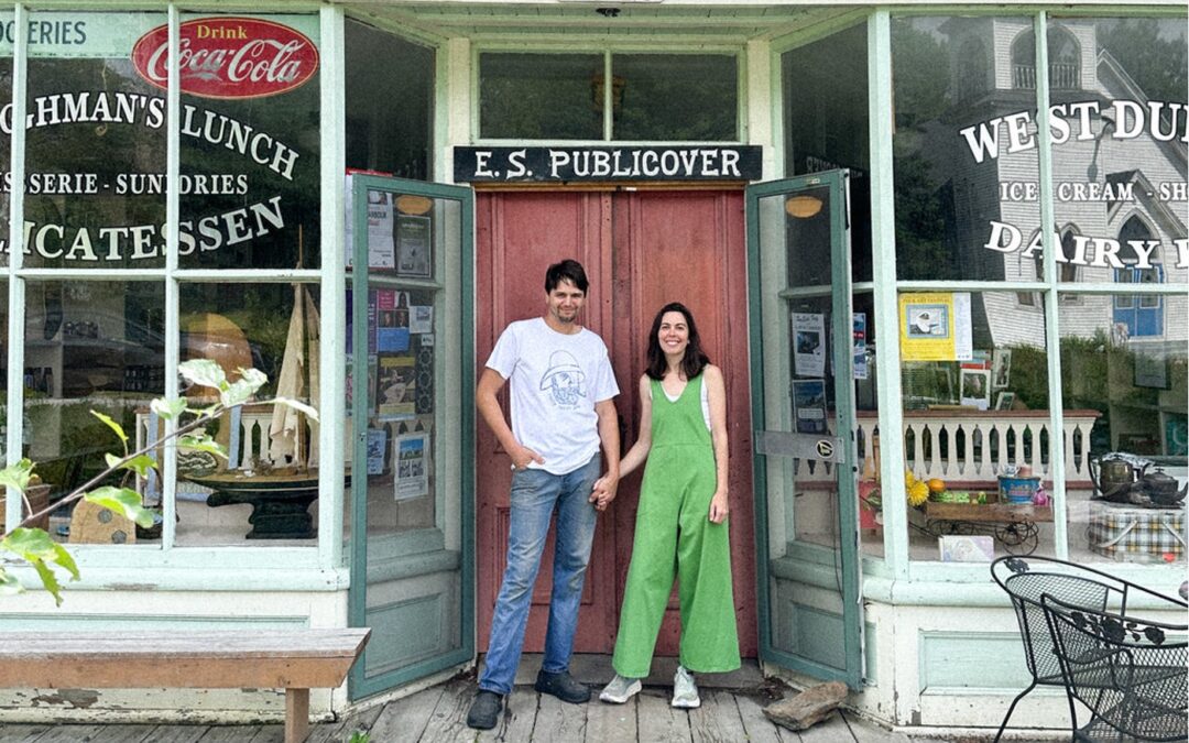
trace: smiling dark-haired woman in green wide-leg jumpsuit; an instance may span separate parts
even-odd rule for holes
[[[681,643],[672,704],[690,709],[702,704],[691,672],[740,667],[726,537],[726,391],[723,372],[703,353],[693,315],[680,302],[656,314],[647,363],[640,378],[640,437],[619,473],[627,476],[646,458],[648,466],[611,659],[616,675],[599,699],[622,704],[640,691],[677,577]]]

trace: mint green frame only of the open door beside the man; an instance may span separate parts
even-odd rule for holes
[[[458,492],[446,493],[445,499],[455,498],[458,508],[453,510],[459,524],[451,524],[459,533],[458,548],[447,549],[443,537],[442,518],[448,515],[435,515],[435,527],[417,529],[400,535],[396,540],[397,548],[394,554],[385,556],[385,565],[369,566],[367,560],[367,405],[371,404],[371,392],[366,384],[353,385],[356,390],[352,396],[352,407],[348,413],[352,416],[352,461],[354,473],[351,479],[351,588],[347,600],[348,623],[351,626],[369,626],[367,616],[367,588],[369,577],[375,578],[383,573],[385,579],[413,578],[428,574],[449,574],[457,578],[457,604],[448,607],[449,616],[453,617],[455,626],[451,628],[457,632],[457,647],[433,656],[417,656],[408,663],[389,657],[376,657],[376,653],[383,653],[382,647],[370,642],[364,649],[364,655],[351,670],[348,680],[348,693],[352,700],[369,697],[390,688],[402,686],[410,681],[424,678],[439,670],[451,668],[459,663],[465,663],[474,659],[474,195],[470,188],[457,185],[443,185],[438,183],[424,183],[421,181],[405,181],[402,178],[389,178],[380,176],[356,175],[352,177],[352,214],[353,225],[353,265],[369,265],[367,246],[367,193],[385,191],[389,194],[402,194],[414,196],[426,196],[428,199],[442,199],[455,201],[459,204],[459,256],[453,262],[458,270],[454,275],[440,275],[436,277],[436,287],[446,296],[453,294],[457,297],[459,308],[455,317],[435,317],[434,333],[438,335],[435,346],[441,347],[451,334],[457,334],[453,342],[458,342],[460,350],[459,374],[460,399],[457,405],[447,404],[442,399],[440,391],[434,403],[435,410],[454,411],[453,417],[438,417],[434,437],[432,441],[439,443],[447,436],[458,436],[455,451],[460,453],[460,461],[446,461],[439,466],[442,468],[457,467],[460,470]],[[395,209],[395,207],[394,207]],[[433,259],[439,266],[445,262]],[[354,270],[351,272],[350,285],[352,288],[353,301],[351,307],[352,321],[352,367],[357,374],[367,376],[369,353],[369,322],[367,322],[367,291],[369,271]],[[423,282],[423,284],[427,282]],[[439,302],[441,308],[447,302]],[[438,310],[435,310],[436,313]],[[440,363],[440,361],[435,361]],[[390,445],[391,442],[389,442]],[[439,447],[445,448],[445,447]],[[438,460],[438,452],[430,454]],[[439,484],[440,486],[440,484]],[[445,502],[440,499],[440,502]],[[436,511],[438,509],[435,509]],[[449,512],[449,509],[441,509]],[[369,569],[371,568],[371,569]],[[446,599],[449,600],[449,599]],[[397,602],[400,603],[400,602]],[[408,602],[415,604],[416,602]],[[409,616],[421,616],[416,611]],[[417,637],[423,632],[438,632],[439,626],[422,628],[413,625],[400,628],[401,632],[407,632],[410,637]],[[373,628],[375,629],[375,628]],[[373,638],[375,638],[373,631]],[[369,654],[372,654],[370,657]],[[384,670],[367,676],[366,669],[372,666],[383,667]]]

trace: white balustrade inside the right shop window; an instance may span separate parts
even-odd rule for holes
[[[1089,483],[1090,428],[1099,415],[1096,410],[1064,411],[1061,441],[1067,483]],[[858,467],[864,478],[875,476],[877,426],[875,413],[858,414]],[[905,468],[919,479],[994,480],[1004,465],[1027,465],[1034,474],[1052,479],[1048,410],[910,410],[904,414],[902,445]],[[833,479],[824,467],[805,470],[798,471],[801,481]]]

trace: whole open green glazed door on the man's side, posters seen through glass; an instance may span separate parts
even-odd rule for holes
[[[359,699],[474,656],[473,196],[351,177],[350,619]]]

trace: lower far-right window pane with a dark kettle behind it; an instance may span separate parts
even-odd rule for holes
[[[1076,454],[1067,462],[1070,559],[1184,565],[1181,543],[1168,541],[1172,537],[1158,528],[1162,518],[1177,511],[1153,509],[1150,503],[1171,489],[1171,483],[1159,483],[1159,478],[1179,478],[1179,489],[1189,473],[1189,300],[1183,294],[1160,297],[1175,319],[1168,333],[1135,338],[1114,320],[1120,301],[1128,296],[1082,295],[1081,307],[1063,308],[1059,315],[1064,407],[1067,417],[1076,415],[1081,421]],[[1134,459],[1111,464],[1119,454]],[[1130,480],[1145,465],[1145,474],[1153,477],[1132,489]],[[1107,495],[1108,502],[1092,500],[1095,491]],[[1152,522],[1157,528],[1144,531],[1151,540],[1120,543],[1126,522],[1140,528]]]

